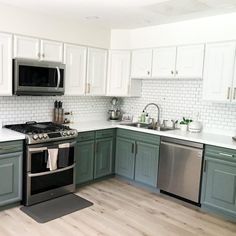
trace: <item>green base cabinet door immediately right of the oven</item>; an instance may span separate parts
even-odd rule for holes
[[[93,180],[94,141],[76,145],[76,184]]]

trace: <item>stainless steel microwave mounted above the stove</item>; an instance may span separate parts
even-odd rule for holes
[[[23,59],[13,60],[13,94],[54,96],[65,92],[65,65]]]

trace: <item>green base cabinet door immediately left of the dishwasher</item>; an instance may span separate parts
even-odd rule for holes
[[[157,186],[159,146],[143,142],[136,144],[135,180]]]

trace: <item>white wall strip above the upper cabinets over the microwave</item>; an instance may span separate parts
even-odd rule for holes
[[[0,4],[0,31],[109,48],[110,30]]]

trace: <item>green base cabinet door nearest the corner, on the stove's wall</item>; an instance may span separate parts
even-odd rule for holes
[[[112,173],[113,138],[98,139],[95,143],[94,178]]]

